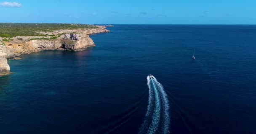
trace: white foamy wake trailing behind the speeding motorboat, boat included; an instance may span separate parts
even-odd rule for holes
[[[152,76],[147,77],[149,104],[139,134],[169,134],[169,101],[163,85]]]

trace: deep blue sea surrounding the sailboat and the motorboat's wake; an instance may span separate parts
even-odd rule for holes
[[[149,74],[167,94],[170,134],[256,133],[256,26],[107,29],[91,35],[96,47],[85,51],[8,61],[13,74],[0,77],[0,133],[138,134]]]

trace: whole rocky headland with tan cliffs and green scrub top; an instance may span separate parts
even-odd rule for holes
[[[101,25],[0,23],[0,75],[10,73],[6,58],[19,59],[21,54],[43,50],[85,50],[95,46],[90,34],[108,32]]]

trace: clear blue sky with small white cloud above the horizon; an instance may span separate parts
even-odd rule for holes
[[[0,12],[16,23],[256,24],[256,0],[0,0]]]

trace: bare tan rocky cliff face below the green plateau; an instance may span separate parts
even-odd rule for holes
[[[90,34],[108,33],[105,26],[85,29],[64,29],[43,34],[49,36],[16,36],[11,41],[0,37],[0,76],[10,73],[10,66],[6,58],[17,58],[21,54],[29,54],[43,50],[82,51],[95,46]],[[54,38],[53,38],[54,37]],[[2,45],[1,45],[2,43]]]

